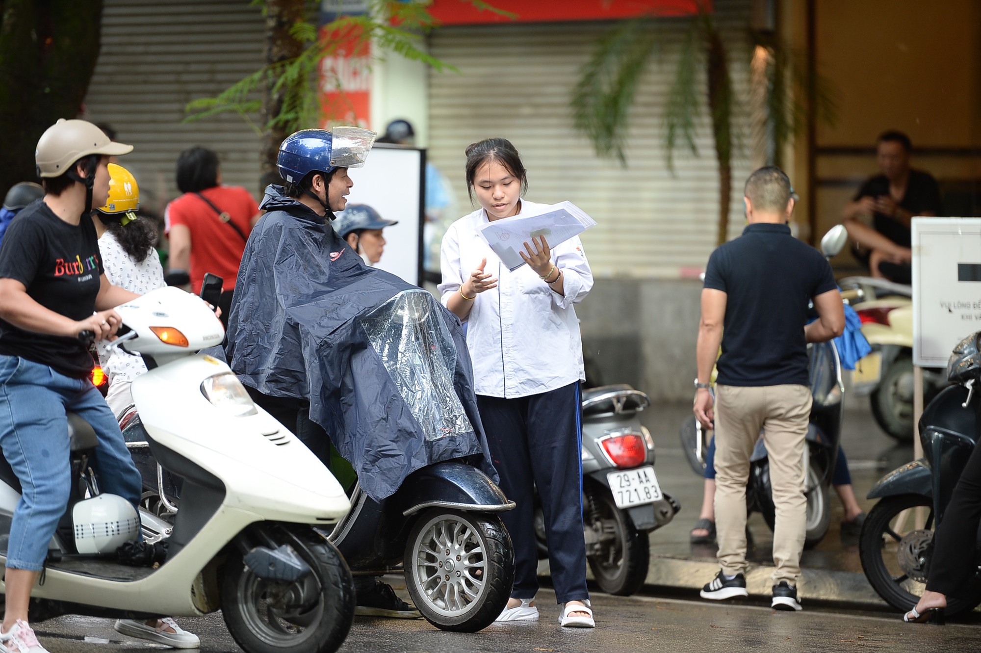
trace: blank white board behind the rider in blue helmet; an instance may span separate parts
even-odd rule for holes
[[[367,204],[397,225],[382,231],[385,251],[376,268],[422,283],[423,200],[426,152],[414,147],[379,144],[364,168],[348,169],[354,185],[347,204]]]

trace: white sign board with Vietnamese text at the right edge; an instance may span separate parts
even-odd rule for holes
[[[943,368],[981,330],[981,218],[913,218],[913,365]]]

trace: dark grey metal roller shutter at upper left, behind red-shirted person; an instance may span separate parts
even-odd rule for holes
[[[225,183],[258,194],[259,136],[241,117],[181,121],[187,102],[262,66],[264,34],[260,8],[242,0],[106,0],[85,118],[109,123],[135,146],[120,163],[132,169],[148,212],[162,216],[179,194],[178,155],[193,145],[218,152]]]

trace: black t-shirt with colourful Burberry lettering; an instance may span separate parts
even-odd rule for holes
[[[43,201],[14,219],[0,245],[0,278],[21,281],[31,299],[72,320],[92,315],[102,273],[91,218],[70,225]],[[92,357],[77,338],[34,333],[4,320],[0,354],[43,363],[67,377],[84,378],[92,370]]]

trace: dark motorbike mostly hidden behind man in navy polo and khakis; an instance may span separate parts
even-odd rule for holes
[[[844,226],[832,227],[821,239],[821,251],[825,257],[838,254],[845,246],[847,237]],[[811,548],[824,538],[831,525],[829,489],[841,442],[845,383],[841,358],[833,340],[807,345],[807,357],[812,402],[805,436],[804,468],[807,474],[804,494],[807,497],[807,517],[804,547]],[[698,476],[704,476],[711,439],[712,431],[702,428],[695,416],[687,418],[682,424],[682,449]],[[757,440],[749,458],[746,500],[748,511],[760,513],[766,525],[772,529],[776,524],[776,508],[770,483],[769,458],[762,437]]]

